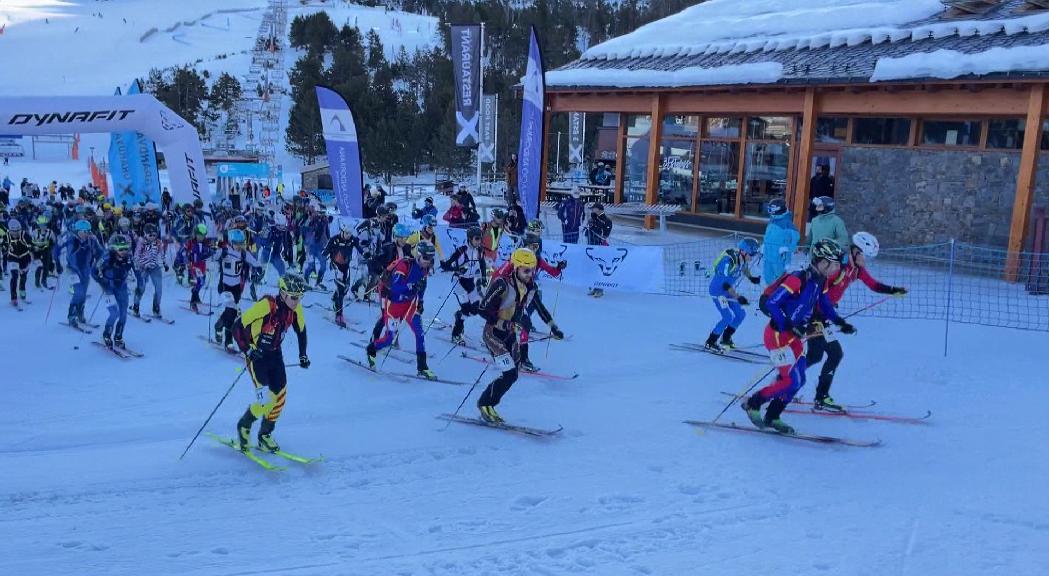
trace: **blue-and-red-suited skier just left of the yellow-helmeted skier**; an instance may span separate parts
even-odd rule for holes
[[[379,320],[384,325],[384,334],[368,344],[368,365],[374,369],[376,355],[393,343],[398,327],[392,322],[407,322],[415,334],[415,366],[419,376],[434,380],[436,376],[426,365],[426,340],[423,338],[423,297],[426,294],[426,277],[433,268],[436,249],[428,240],[415,244],[413,258],[401,258],[390,264],[388,287],[380,286],[383,296],[383,315]]]

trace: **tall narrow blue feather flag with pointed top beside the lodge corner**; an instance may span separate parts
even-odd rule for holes
[[[539,178],[542,177],[542,147],[544,99],[547,83],[543,79],[542,55],[539,41],[532,26],[528,49],[528,68],[524,71],[524,99],[521,102],[521,134],[517,147],[517,189],[524,215],[530,219],[539,215]]]

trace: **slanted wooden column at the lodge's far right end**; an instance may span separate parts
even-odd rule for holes
[[[1042,111],[1046,102],[1046,85],[1031,86],[1027,98],[1027,123],[1024,131],[1024,149],[1020,153],[1020,173],[1016,175],[1016,197],[1012,201],[1012,223],[1009,227],[1009,256],[1005,266],[1006,279],[1016,279],[1018,256],[1027,239],[1031,201],[1034,195],[1035,173],[1039,170],[1039,152],[1042,145]]]

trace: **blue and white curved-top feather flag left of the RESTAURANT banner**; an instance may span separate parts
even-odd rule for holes
[[[363,218],[364,173],[361,171],[361,146],[357,140],[354,113],[339,92],[324,86],[317,86],[317,102],[321,109],[324,145],[327,147],[339,213]]]

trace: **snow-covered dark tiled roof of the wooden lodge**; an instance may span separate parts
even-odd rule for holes
[[[564,87],[1049,76],[1049,10],[1002,0],[948,18],[940,0],[708,0],[547,73]],[[773,69],[779,69],[775,74]]]

